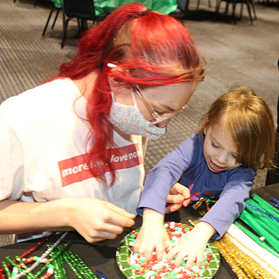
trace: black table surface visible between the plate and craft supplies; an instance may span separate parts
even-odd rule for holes
[[[265,200],[271,199],[271,197],[279,198],[279,184],[273,186],[265,186],[262,188],[257,188],[252,190],[251,193],[256,193]],[[165,221],[174,221],[176,223],[184,223],[190,225],[188,220],[197,220],[199,218],[199,210],[195,211],[192,206],[189,206],[186,209],[181,209],[179,212],[167,214]],[[135,225],[133,227],[126,227],[123,234],[117,236],[116,239],[106,240],[99,243],[88,243],[82,236],[77,234],[77,232],[69,232],[66,238],[63,240],[63,243],[71,241],[70,247],[68,248],[74,254],[79,255],[82,260],[89,266],[93,273],[96,273],[96,270],[100,270],[108,279],[125,279],[126,276],[121,273],[119,267],[116,263],[116,248],[119,246],[120,241],[123,239],[126,234],[129,234],[137,227],[142,225],[142,218],[137,216],[135,219]],[[44,243],[43,246],[34,251],[31,255],[40,256],[47,250],[47,244],[52,244],[59,238],[61,234],[56,234],[50,238],[49,241]],[[29,250],[31,247],[35,246],[38,241],[41,239],[33,239],[31,241],[24,241],[21,243],[16,243],[9,246],[0,247],[0,262],[6,262],[6,255],[10,256],[13,259],[15,256],[22,255],[23,252]],[[1,265],[1,264],[0,264]],[[66,264],[67,276],[69,279],[77,278],[73,271],[68,269]],[[97,274],[97,273],[96,273]],[[221,257],[220,268],[214,276],[214,279],[229,279],[237,278],[235,274],[230,269],[225,259]]]

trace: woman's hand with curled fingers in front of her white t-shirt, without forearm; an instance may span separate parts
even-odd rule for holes
[[[124,227],[135,224],[134,214],[100,199],[74,199],[68,223],[88,242],[115,239]]]

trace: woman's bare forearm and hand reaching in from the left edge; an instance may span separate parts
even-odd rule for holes
[[[114,239],[123,227],[135,224],[135,215],[93,198],[51,202],[0,202],[0,234],[57,232],[75,229],[91,243]]]

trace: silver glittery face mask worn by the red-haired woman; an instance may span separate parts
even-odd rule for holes
[[[166,133],[165,127],[149,126],[150,122],[144,119],[137,107],[114,102],[113,94],[110,122],[126,135],[141,135],[150,140],[158,140]]]

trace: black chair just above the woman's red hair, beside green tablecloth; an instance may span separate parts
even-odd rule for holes
[[[92,20],[93,23],[99,20],[104,20],[106,15],[95,14],[93,0],[63,0],[63,38],[61,48],[65,45],[68,22],[72,18],[77,18],[78,26],[81,31],[86,31],[87,20]]]

